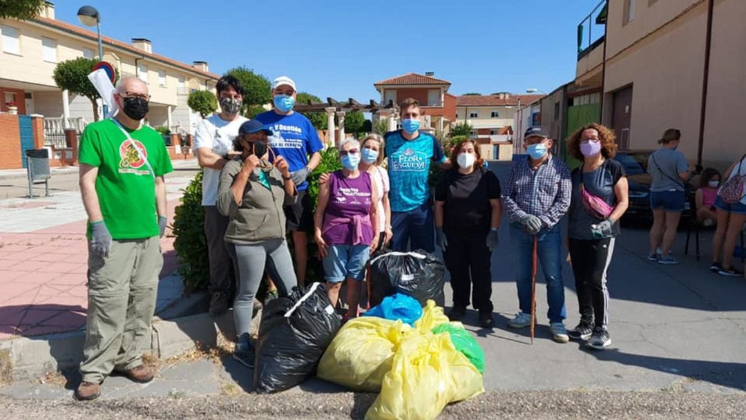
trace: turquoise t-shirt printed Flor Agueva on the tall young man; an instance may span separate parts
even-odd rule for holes
[[[413,140],[404,139],[401,131],[391,131],[384,138],[386,156],[389,157],[391,210],[414,210],[430,196],[427,185],[430,160],[445,162],[443,149],[435,137],[421,131]]]

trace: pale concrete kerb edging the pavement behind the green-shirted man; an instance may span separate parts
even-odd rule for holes
[[[192,301],[188,304],[166,308],[161,315],[169,310],[184,313],[189,308],[200,306],[206,294],[193,298],[195,295],[190,297]],[[258,332],[261,316],[262,310],[254,314],[252,333]],[[229,339],[236,336],[233,310],[217,319],[213,319],[209,313],[168,320],[154,316],[150,350],[160,360],[165,360],[198,348],[214,348],[221,336]],[[85,331],[77,330],[0,341],[0,383],[78,369],[83,359],[84,340]]]

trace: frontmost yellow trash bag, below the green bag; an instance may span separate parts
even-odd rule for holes
[[[399,346],[366,420],[435,419],[446,404],[481,392],[482,375],[448,334],[413,333]]]

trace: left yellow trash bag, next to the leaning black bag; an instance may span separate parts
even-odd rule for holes
[[[317,376],[356,391],[378,392],[401,340],[412,327],[364,316],[348,321],[327,347]]]

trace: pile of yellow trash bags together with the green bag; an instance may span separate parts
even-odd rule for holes
[[[476,340],[430,300],[413,327],[374,316],[347,322],[317,375],[356,391],[380,392],[366,419],[435,419],[446,404],[484,392],[483,372]]]

